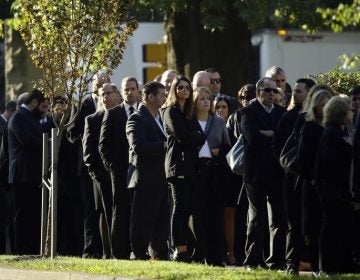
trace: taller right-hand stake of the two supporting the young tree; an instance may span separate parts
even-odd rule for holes
[[[59,153],[57,128],[51,129],[51,259],[57,254],[57,160]]]

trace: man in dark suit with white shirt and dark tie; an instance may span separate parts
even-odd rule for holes
[[[113,193],[111,222],[111,253],[117,259],[130,257],[130,193],[127,189],[129,144],[126,121],[137,109],[138,83],[135,78],[124,78],[121,83],[124,102],[105,112],[101,125],[99,151],[105,167],[110,171]]]

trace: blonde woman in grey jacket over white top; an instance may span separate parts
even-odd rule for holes
[[[206,141],[199,150],[197,184],[194,192],[194,229],[196,248],[194,260],[211,265],[222,265],[224,239],[225,155],[230,150],[230,139],[225,120],[214,114],[211,92],[205,87],[194,90],[195,115]]]

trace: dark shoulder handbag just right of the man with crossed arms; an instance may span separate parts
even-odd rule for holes
[[[291,133],[280,153],[280,165],[285,171],[299,174],[298,140]]]

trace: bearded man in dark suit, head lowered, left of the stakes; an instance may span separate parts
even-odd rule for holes
[[[9,184],[14,194],[15,253],[39,254],[44,95],[33,89],[9,120]]]

